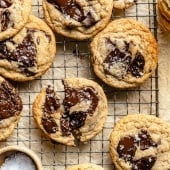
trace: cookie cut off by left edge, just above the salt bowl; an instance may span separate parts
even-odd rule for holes
[[[14,131],[22,111],[18,91],[7,80],[0,77],[0,141]]]

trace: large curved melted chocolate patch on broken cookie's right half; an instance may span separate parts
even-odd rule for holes
[[[93,115],[99,99],[96,91],[92,87],[74,89],[68,87],[64,81],[63,84],[65,88],[65,98],[63,100],[65,112],[60,120],[60,124],[63,134],[67,135],[70,134],[70,131],[81,128],[85,123],[87,115]],[[75,111],[70,113],[70,108],[82,101],[90,102],[89,108],[86,111]]]

